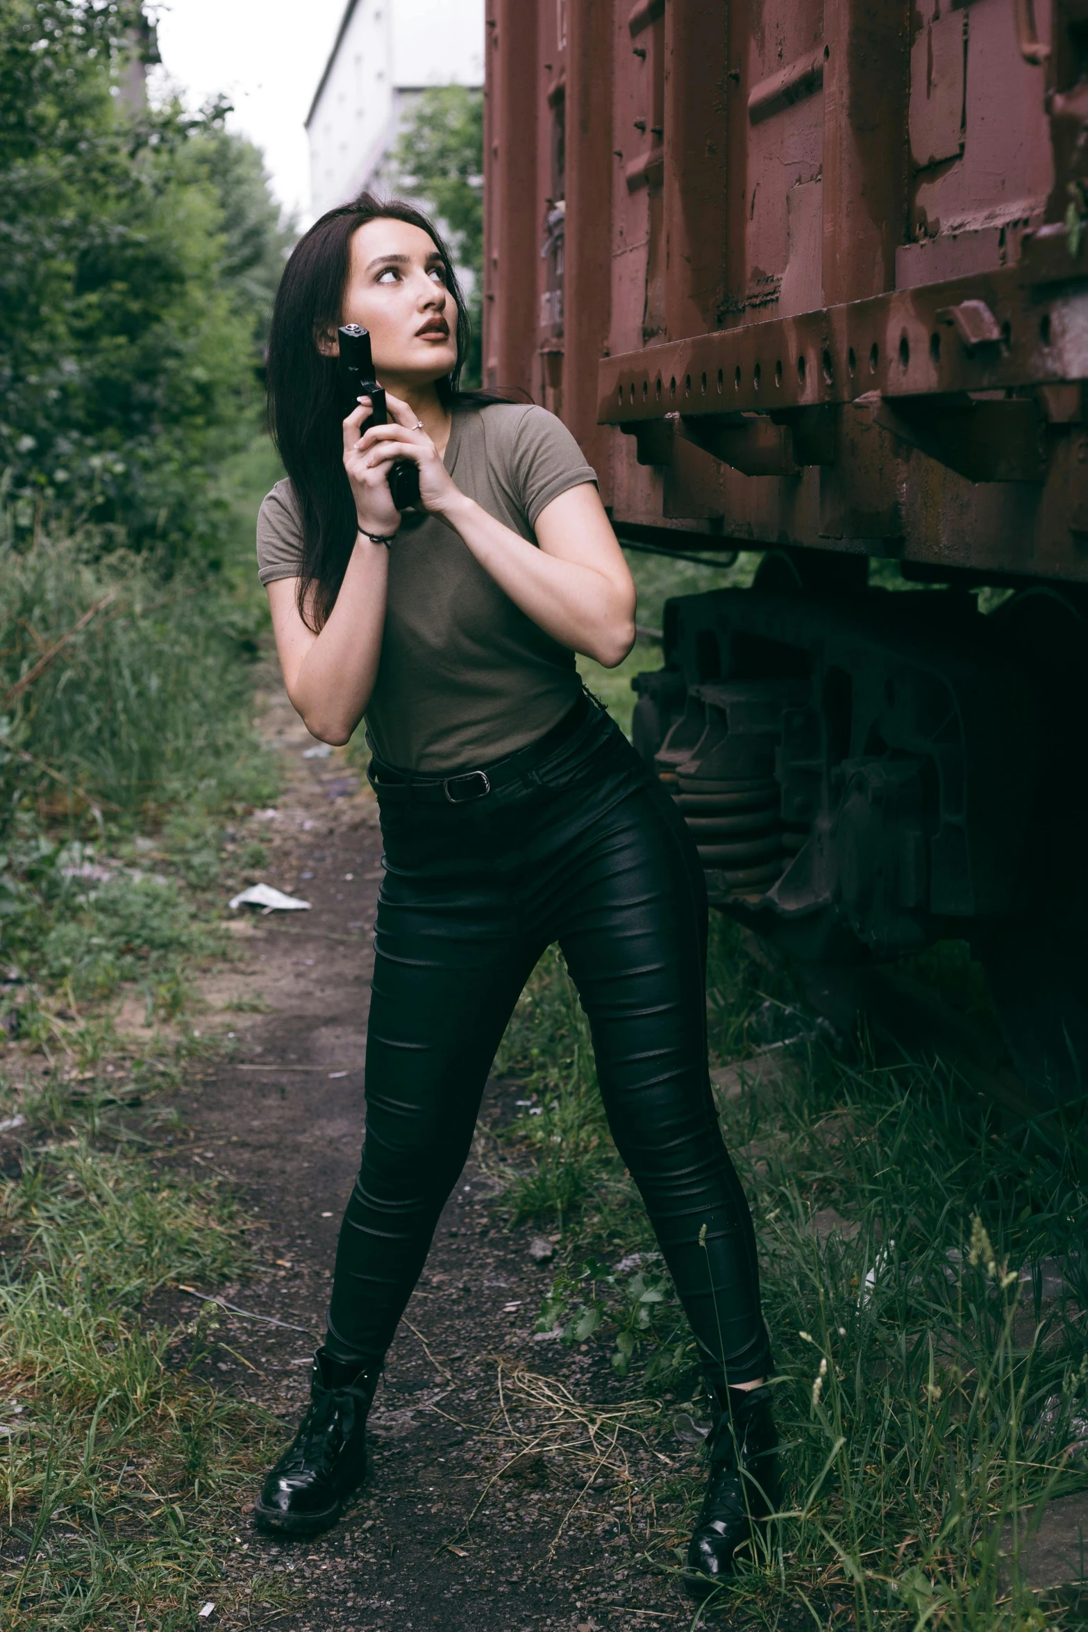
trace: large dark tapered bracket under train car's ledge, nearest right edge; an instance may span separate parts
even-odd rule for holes
[[[855,411],[920,449],[969,481],[1044,481],[1044,419],[1026,398],[974,401],[971,397],[889,400],[860,397]]]

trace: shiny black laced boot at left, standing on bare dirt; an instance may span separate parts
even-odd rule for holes
[[[310,1408],[253,1508],[259,1531],[318,1536],[336,1523],[367,1472],[367,1412],[377,1384],[377,1369],[360,1371],[316,1351]]]

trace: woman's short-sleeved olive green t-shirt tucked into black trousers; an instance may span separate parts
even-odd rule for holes
[[[522,403],[453,413],[444,462],[462,493],[530,543],[551,499],[597,480],[566,426]],[[261,504],[256,550],[263,584],[299,576],[287,480]],[[442,775],[486,765],[543,736],[579,692],[574,653],[514,605],[447,522],[401,529],[365,716],[380,759]]]

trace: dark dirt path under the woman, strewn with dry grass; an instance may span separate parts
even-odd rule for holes
[[[271,845],[263,876],[312,909],[241,909],[241,961],[206,991],[212,1009],[233,1005],[233,1053],[194,1066],[178,1095],[186,1126],[178,1160],[222,1175],[263,1221],[258,1273],[219,1296],[289,1325],[220,1312],[215,1338],[228,1348],[204,1366],[223,1389],[276,1412],[287,1438],[303,1408],[359,1160],[382,844],[365,778],[341,756],[303,757],[313,739],[282,694],[268,697],[264,720],[287,782],[277,811],[251,823]],[[515,1095],[515,1084],[493,1082],[484,1121],[509,1116]],[[228,1580],[209,1583],[219,1604],[199,1624],[277,1632],[692,1624],[680,1581],[644,1552],[675,1568],[680,1501],[677,1493],[670,1518],[661,1479],[690,1475],[697,1452],[677,1436],[669,1405],[649,1441],[625,1426],[631,1395],[604,1353],[571,1351],[535,1332],[550,1270],[530,1245],[537,1239],[542,1255],[550,1244],[530,1227],[507,1229],[494,1191],[481,1151],[445,1208],[388,1355],[370,1417],[372,1474],[344,1521],[316,1541],[281,1546],[240,1513]],[[282,1573],[294,1575],[299,1608],[268,1601],[285,1585],[271,1580]]]

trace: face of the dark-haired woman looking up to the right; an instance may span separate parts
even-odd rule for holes
[[[403,220],[369,220],[351,240],[344,323],[370,330],[382,385],[424,385],[457,362],[457,305],[434,238]]]

